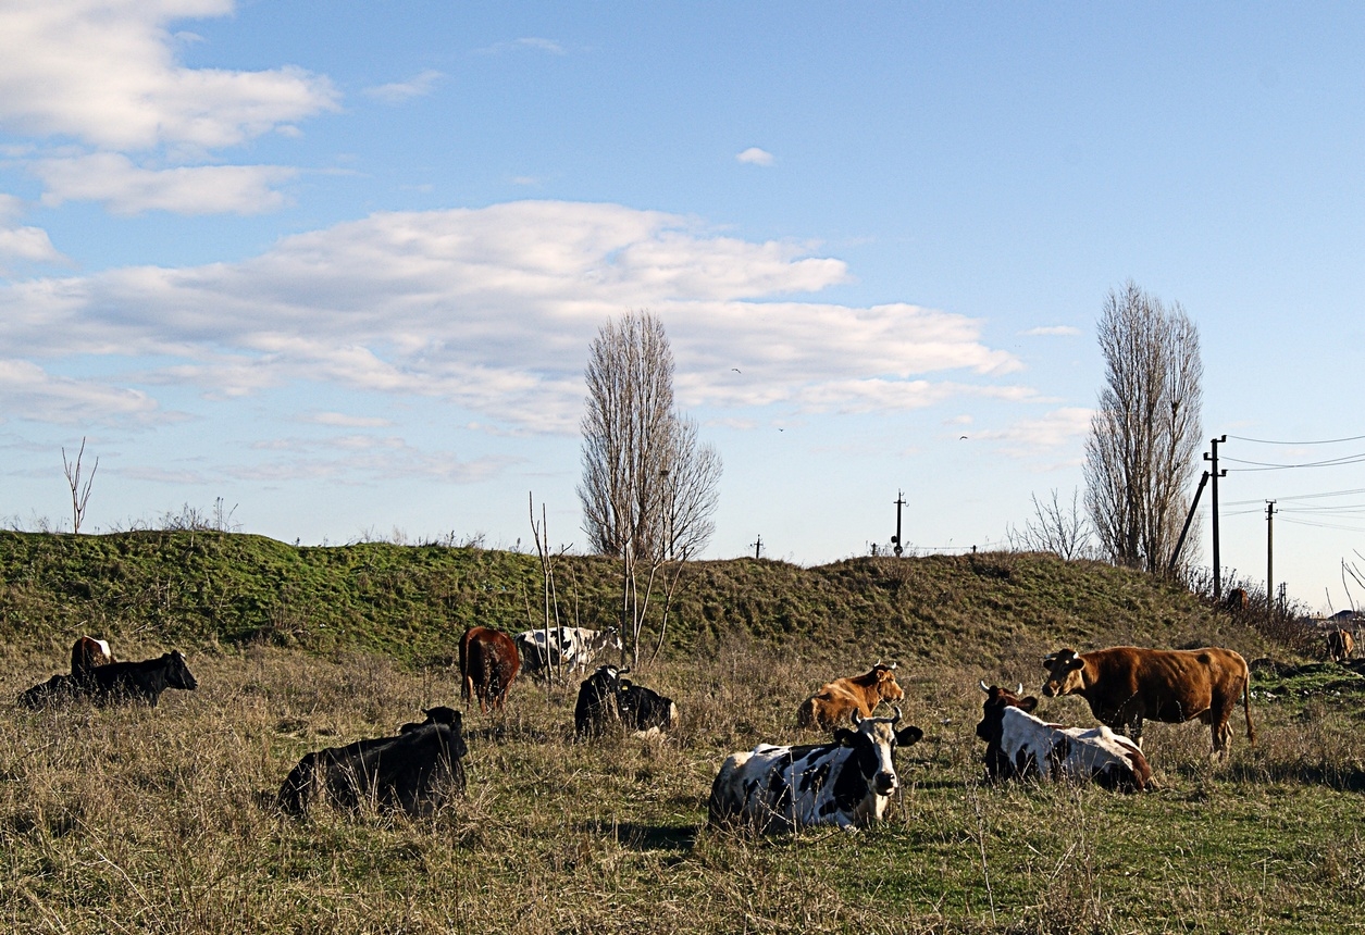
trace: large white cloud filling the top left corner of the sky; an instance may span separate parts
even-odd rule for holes
[[[332,83],[302,68],[175,60],[169,22],[232,10],[232,0],[10,0],[0,5],[0,126],[112,150],[212,150],[336,109]]]

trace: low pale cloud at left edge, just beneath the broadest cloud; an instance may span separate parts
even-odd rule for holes
[[[134,389],[53,377],[30,360],[0,359],[0,422],[22,418],[60,425],[149,422],[156,400]]]

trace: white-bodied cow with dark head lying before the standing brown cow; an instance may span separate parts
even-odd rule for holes
[[[1108,728],[1062,728],[1033,717],[1037,699],[1020,697],[980,682],[986,711],[976,736],[986,741],[986,773],[992,779],[1040,778],[1095,782],[1106,789],[1140,792],[1152,767],[1137,744]]]

